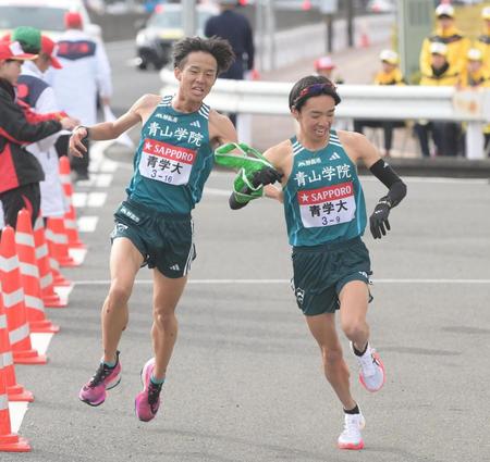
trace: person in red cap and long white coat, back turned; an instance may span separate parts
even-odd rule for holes
[[[60,108],[78,118],[83,125],[97,123],[97,96],[102,104],[109,104],[112,93],[111,68],[103,46],[83,30],[79,13],[64,16],[66,30],[58,40],[58,59],[63,68],[50,72],[48,82],[52,85]],[[68,136],[60,137],[59,152],[68,152]],[[88,179],[89,154],[83,159],[72,158],[75,179]]]

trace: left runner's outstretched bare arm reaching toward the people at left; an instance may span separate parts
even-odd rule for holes
[[[160,97],[158,95],[144,95],[126,113],[113,122],[102,122],[90,127],[76,127],[70,137],[70,152],[77,158],[83,157],[87,151],[83,143],[83,140],[86,138],[96,141],[118,138],[137,123],[146,121],[159,101]]]

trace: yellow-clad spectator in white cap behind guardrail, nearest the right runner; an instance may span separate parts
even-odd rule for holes
[[[375,76],[375,85],[405,85],[399,67],[399,54],[393,50],[382,50],[379,54],[381,70]],[[382,128],[384,132],[384,155],[390,157],[393,128],[405,126],[403,121],[355,120],[354,132],[363,133],[364,127]]]

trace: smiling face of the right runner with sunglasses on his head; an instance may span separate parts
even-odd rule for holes
[[[335,113],[335,101],[330,95],[308,98],[301,112],[293,110],[293,116],[299,123],[301,132],[315,141],[329,137]]]

